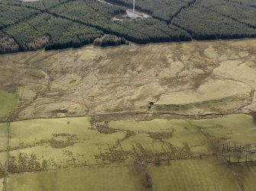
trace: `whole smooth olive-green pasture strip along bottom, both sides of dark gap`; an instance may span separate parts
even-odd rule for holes
[[[254,190],[255,166],[227,165],[217,158],[171,161],[170,164],[147,164],[139,172],[133,164],[79,167],[31,173],[13,173],[8,190],[145,190],[143,176],[148,174],[152,190]]]

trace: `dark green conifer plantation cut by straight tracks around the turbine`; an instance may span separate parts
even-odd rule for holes
[[[256,37],[254,0],[136,0],[150,17],[134,21],[113,19],[132,0],[105,2],[0,0],[0,53],[79,47],[105,34],[134,43]]]

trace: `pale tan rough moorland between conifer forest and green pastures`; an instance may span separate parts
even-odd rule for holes
[[[18,119],[151,111],[249,113],[255,110],[254,42],[85,46],[5,55],[0,62],[14,77],[11,85],[28,91],[21,95]],[[10,76],[1,82],[10,84]],[[41,88],[28,88],[31,83]],[[147,110],[149,102],[155,105],[152,110]]]

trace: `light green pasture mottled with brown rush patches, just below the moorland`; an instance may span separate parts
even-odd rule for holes
[[[31,119],[11,123],[10,133],[14,173],[133,164],[138,159],[155,163],[211,154],[230,162],[256,160],[256,125],[246,115],[111,122],[93,117]]]

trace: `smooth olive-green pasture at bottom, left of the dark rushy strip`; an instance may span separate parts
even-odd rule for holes
[[[8,190],[143,190],[138,175],[130,166],[83,167],[15,173],[8,178]]]

